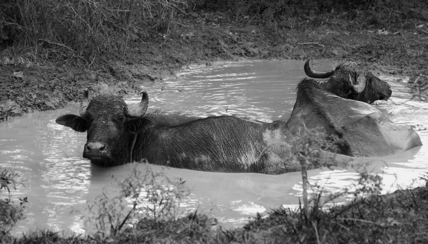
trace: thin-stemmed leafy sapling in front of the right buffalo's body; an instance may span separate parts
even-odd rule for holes
[[[361,194],[379,194],[382,190],[382,177],[377,174],[371,174],[367,171],[368,162],[355,162],[353,158],[347,156],[337,156],[340,147],[347,147],[347,142],[337,135],[326,136],[324,132],[319,129],[307,129],[302,122],[302,127],[298,135],[293,139],[292,157],[300,162],[302,166],[302,181],[303,181],[303,203],[305,218],[311,219],[309,204],[313,203],[312,213],[317,213],[328,202],[331,202],[341,196],[353,194],[355,197]],[[313,188],[318,188],[314,192],[314,196],[309,197],[307,188],[309,182],[307,179],[307,169],[339,166],[343,168],[353,168],[360,174],[357,184],[353,189],[347,187],[339,190],[338,192],[322,196],[321,186],[312,185]],[[325,199],[320,202],[321,197]]]

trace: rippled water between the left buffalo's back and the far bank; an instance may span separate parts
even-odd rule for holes
[[[327,66],[331,68],[332,65]],[[196,116],[239,115],[261,121],[287,120],[303,64],[296,61],[221,62],[193,66],[142,88],[149,108]],[[138,104],[141,97],[126,100]]]

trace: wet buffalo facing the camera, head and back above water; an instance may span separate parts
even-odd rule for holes
[[[128,109],[114,95],[99,95],[88,102],[84,91],[80,116],[67,114],[56,122],[87,131],[83,157],[103,166],[147,159],[153,164],[212,172],[300,170],[300,165],[289,160],[286,141],[292,134],[286,122],[146,114],[147,107],[146,92],[137,108]]]

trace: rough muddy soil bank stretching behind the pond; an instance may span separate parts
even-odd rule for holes
[[[427,23],[400,28],[361,23],[348,19],[345,12],[301,17],[282,28],[269,28],[233,21],[222,13],[189,10],[172,21],[168,34],[140,33],[124,57],[101,58],[96,69],[1,57],[0,122],[77,102],[84,87],[92,96],[133,94],[141,84],[162,82],[165,75],[191,63],[329,58],[358,61],[374,73],[412,75],[426,69]],[[387,34],[378,33],[383,28]]]

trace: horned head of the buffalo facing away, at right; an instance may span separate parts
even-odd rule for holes
[[[320,82],[321,88],[346,99],[371,104],[376,100],[388,100],[392,94],[387,82],[354,62],[340,64],[334,70],[318,72],[311,70],[308,60],[304,69],[311,78],[328,78]]]

